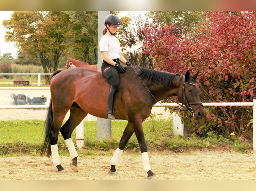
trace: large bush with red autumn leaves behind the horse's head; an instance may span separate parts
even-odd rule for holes
[[[193,36],[177,37],[173,26],[145,28],[145,54],[156,70],[185,74],[200,70],[203,102],[245,102],[256,96],[256,12],[213,11]],[[200,134],[214,131],[241,139],[252,138],[252,107],[208,107],[197,123],[182,114]]]

